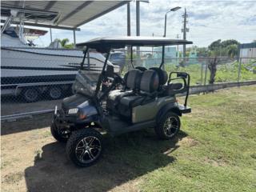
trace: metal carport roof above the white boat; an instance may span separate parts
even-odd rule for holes
[[[76,29],[86,22],[109,13],[130,1],[2,1],[1,12],[8,16],[10,10],[19,10],[31,14],[34,12],[47,14],[47,19],[27,17],[24,24],[27,26],[42,26],[59,29]],[[46,15],[44,14],[44,15]],[[4,20],[1,20],[4,22]],[[19,18],[14,18],[12,23],[19,23]]]

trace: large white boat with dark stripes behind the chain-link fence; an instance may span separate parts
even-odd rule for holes
[[[30,46],[24,38],[18,36],[14,27],[9,27],[1,36],[1,95],[18,95],[22,93],[22,87],[27,90],[28,86],[40,86],[46,90],[49,88],[46,86],[50,85],[70,85],[78,73],[82,58],[82,50],[63,49],[58,41],[44,48]],[[105,61],[102,54],[90,52],[89,58],[85,59],[85,69],[102,69]],[[118,66],[114,70],[118,72]],[[60,87],[54,87],[55,93],[56,90],[61,91]],[[62,87],[67,89],[67,86]],[[59,98],[61,94],[50,95],[51,98]]]

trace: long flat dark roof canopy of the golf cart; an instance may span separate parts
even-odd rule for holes
[[[182,39],[170,39],[162,37],[123,36],[113,38],[94,38],[88,42],[76,44],[77,47],[87,46],[96,50],[119,49],[125,46],[174,46],[192,44]]]

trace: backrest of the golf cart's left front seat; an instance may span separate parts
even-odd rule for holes
[[[140,86],[140,81],[142,78],[142,71],[140,70],[129,70],[124,77],[126,82],[126,88],[130,90],[138,90]]]

